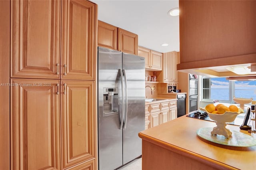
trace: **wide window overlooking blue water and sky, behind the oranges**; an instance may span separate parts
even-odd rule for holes
[[[202,100],[234,103],[233,96],[256,100],[256,81],[228,81],[225,77],[202,78]]]

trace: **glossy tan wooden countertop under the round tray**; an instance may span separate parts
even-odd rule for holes
[[[196,130],[202,127],[216,127],[216,123],[184,115],[157,127],[144,130],[139,133],[139,136],[143,140],[208,164],[228,169],[255,170],[256,146],[226,146],[204,140],[196,134]],[[256,134],[240,130],[238,126],[227,125],[226,128],[256,138]]]

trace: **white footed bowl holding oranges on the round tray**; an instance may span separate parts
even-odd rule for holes
[[[200,110],[205,111],[208,113],[210,119],[216,121],[216,127],[213,128],[211,134],[212,135],[224,135],[226,138],[232,136],[232,132],[226,128],[227,122],[233,122],[236,119],[236,116],[240,113],[244,113],[244,110],[238,108],[238,112],[225,112],[223,114],[212,114],[206,111],[205,108],[200,107]]]

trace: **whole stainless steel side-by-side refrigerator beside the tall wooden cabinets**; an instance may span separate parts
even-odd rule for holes
[[[98,163],[114,170],[142,154],[144,57],[98,47]]]

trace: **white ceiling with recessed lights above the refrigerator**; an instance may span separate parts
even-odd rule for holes
[[[91,1],[98,4],[98,20],[138,34],[139,46],[162,53],[180,51],[179,16],[167,14],[179,7],[178,0]]]

